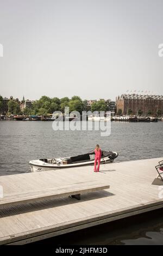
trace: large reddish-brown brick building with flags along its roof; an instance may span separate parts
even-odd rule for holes
[[[163,96],[162,95],[138,95],[122,94],[116,97],[116,113],[121,112],[123,115],[156,115],[158,112],[163,113]]]

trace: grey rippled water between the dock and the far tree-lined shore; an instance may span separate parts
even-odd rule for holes
[[[100,131],[53,131],[52,122],[0,121],[0,175],[29,172],[40,157],[87,153],[98,143],[117,151],[116,161],[163,157],[163,122],[111,123],[111,135]]]

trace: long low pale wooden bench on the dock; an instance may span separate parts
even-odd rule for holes
[[[70,196],[80,200],[80,195],[86,192],[93,192],[97,190],[105,190],[110,186],[101,182],[78,182],[73,185],[60,186],[56,188],[48,188],[48,190],[27,191],[22,193],[4,194],[0,198],[0,209],[5,206],[13,206],[18,204],[36,203],[43,199],[54,199],[59,197]]]

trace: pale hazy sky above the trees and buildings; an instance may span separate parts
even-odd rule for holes
[[[0,0],[0,94],[163,94],[162,0]]]

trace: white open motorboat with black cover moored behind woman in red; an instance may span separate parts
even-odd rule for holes
[[[101,163],[113,162],[117,156],[117,152],[102,150]],[[91,153],[78,156],[32,160],[29,162],[29,164],[32,172],[40,172],[42,170],[55,170],[62,168],[88,166],[94,164],[94,159],[95,152],[92,151]]]

